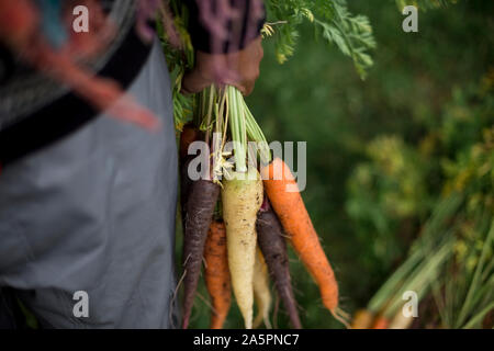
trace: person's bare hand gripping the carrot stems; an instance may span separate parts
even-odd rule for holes
[[[257,37],[244,49],[229,54],[207,54],[199,52],[195,55],[195,67],[182,80],[183,93],[195,93],[212,83],[236,87],[244,95],[254,90],[259,77],[259,64],[263,50],[261,37]]]

